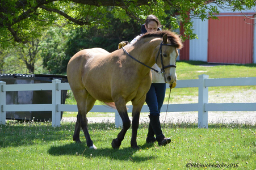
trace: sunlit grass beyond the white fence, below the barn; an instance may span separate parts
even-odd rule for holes
[[[238,77],[255,77],[256,64],[246,65],[211,65],[207,62],[201,61],[177,61],[176,68],[179,80],[184,79],[198,79],[201,74],[209,75],[209,78],[238,78]],[[230,94],[232,92],[239,92],[242,90],[256,90],[256,86],[233,86],[233,87],[209,87],[209,93],[212,94]],[[166,89],[166,96],[164,104],[168,103],[170,89]],[[192,103],[190,97],[198,96],[198,88],[174,88],[171,90],[169,103]],[[65,104],[76,104],[73,94],[68,91],[68,98]],[[96,101],[95,105],[101,105]],[[128,103],[131,104],[131,103]],[[92,116],[113,116],[115,114],[109,113],[93,113],[88,114]],[[64,112],[64,117],[75,117],[77,113]]]

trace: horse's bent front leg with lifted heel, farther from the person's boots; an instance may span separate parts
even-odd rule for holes
[[[124,135],[127,132],[127,130],[131,127],[131,121],[129,120],[129,116],[127,113],[127,108],[125,105],[124,100],[119,100],[115,102],[116,109],[119,112],[119,115],[123,121],[123,129],[120,131],[120,133],[117,135],[116,139],[113,139],[111,145],[113,148],[119,148],[121,145],[121,142],[124,139]]]

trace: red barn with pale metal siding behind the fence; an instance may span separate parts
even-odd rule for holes
[[[254,10],[243,12],[249,18],[255,16]],[[256,19],[247,19],[240,11],[224,10],[217,17],[205,21],[191,19],[198,39],[184,42],[179,60],[256,63]]]

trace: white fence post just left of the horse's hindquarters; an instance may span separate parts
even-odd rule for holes
[[[61,90],[57,89],[57,84],[61,83],[61,80],[52,80],[52,126],[60,126],[61,112],[57,110],[57,105],[61,104]]]

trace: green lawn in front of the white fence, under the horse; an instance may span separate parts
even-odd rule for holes
[[[8,121],[0,125],[0,169],[188,169],[187,163],[256,167],[255,125],[209,124],[198,129],[197,124],[166,124],[162,130],[172,142],[165,147],[145,143],[147,126],[139,127],[139,150],[130,147],[131,129],[114,150],[111,141],[121,129],[111,123],[90,124],[98,147],[91,150],[82,131],[82,143],[72,141],[74,123],[53,128],[50,122]]]

